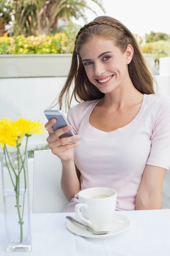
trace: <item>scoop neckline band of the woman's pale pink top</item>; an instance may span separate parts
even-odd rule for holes
[[[116,129],[114,131],[102,131],[102,130],[99,130],[99,129],[95,128],[94,126],[92,126],[89,123],[89,117],[91,115],[91,112],[94,110],[94,107],[97,105],[97,103],[99,103],[101,101],[101,99],[95,100],[94,104],[91,105],[91,108],[90,108],[90,110],[88,112],[88,115],[86,116],[85,127],[86,127],[86,129],[88,131],[91,131],[94,134],[105,135],[105,136],[109,136],[109,135],[114,134],[114,133],[116,133],[118,131],[123,131],[126,128],[129,128],[134,123],[136,123],[141,118],[141,116],[142,116],[142,114],[143,114],[143,112],[144,112],[144,110],[146,108],[146,105],[147,105],[147,99],[148,99],[148,95],[144,94],[141,108],[140,108],[139,112],[137,113],[137,115],[135,116],[135,118],[130,123],[128,123],[127,125],[125,125],[125,126],[123,126],[121,128],[118,128],[118,129]]]

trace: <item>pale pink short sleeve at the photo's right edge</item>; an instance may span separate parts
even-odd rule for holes
[[[154,114],[148,165],[170,168],[170,97],[161,95]]]

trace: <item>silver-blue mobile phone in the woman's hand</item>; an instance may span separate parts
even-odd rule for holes
[[[45,110],[44,114],[46,116],[46,118],[49,120],[51,120],[52,118],[55,118],[57,120],[57,122],[52,126],[54,131],[56,131],[59,128],[63,128],[67,125],[69,125],[67,119],[65,118],[64,114],[62,113],[61,110]],[[71,137],[74,136],[74,132],[73,131],[68,131],[65,134],[62,134],[61,136],[59,136],[59,139],[61,138],[65,138],[65,137]],[[77,141],[74,141],[75,143]]]

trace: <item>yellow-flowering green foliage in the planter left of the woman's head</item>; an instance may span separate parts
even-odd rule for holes
[[[25,37],[0,37],[0,54],[56,54],[72,53],[76,31]]]

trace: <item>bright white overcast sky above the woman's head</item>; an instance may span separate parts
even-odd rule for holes
[[[88,0],[97,16],[104,15],[101,9]],[[170,35],[170,0],[103,0],[108,16],[120,20],[133,34],[143,36],[150,31],[164,32]],[[86,12],[88,21],[96,15]],[[79,23],[83,26],[82,20]]]

